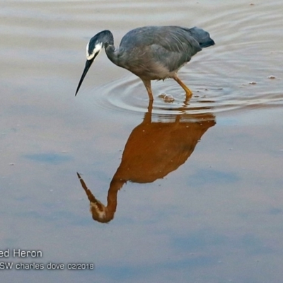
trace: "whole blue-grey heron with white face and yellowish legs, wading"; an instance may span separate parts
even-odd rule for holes
[[[87,45],[87,62],[81,76],[78,93],[93,60],[104,47],[108,58],[117,66],[139,76],[153,100],[151,80],[173,78],[187,94],[190,91],[177,76],[178,70],[202,48],[214,45],[209,33],[201,28],[179,26],[146,26],[130,30],[115,48],[110,30],[103,30],[91,38]]]

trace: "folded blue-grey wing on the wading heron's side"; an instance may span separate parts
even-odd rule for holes
[[[122,38],[120,47],[127,50],[127,54],[132,53],[129,56],[132,64],[137,61],[144,68],[156,64],[168,71],[180,69],[202,50],[190,29],[177,26],[148,26],[131,30]]]

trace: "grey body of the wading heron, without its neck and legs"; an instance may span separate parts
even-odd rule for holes
[[[163,79],[178,71],[210,40],[200,28],[147,26],[130,30],[117,50],[118,65],[137,76]]]

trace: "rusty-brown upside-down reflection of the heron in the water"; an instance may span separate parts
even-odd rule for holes
[[[161,118],[166,120],[167,117],[167,122],[161,122],[160,117],[158,122],[152,122],[151,112],[152,102],[143,122],[129,135],[122,161],[110,183],[107,206],[96,199],[77,173],[90,201],[94,220],[106,223],[114,218],[117,192],[127,181],[151,183],[175,171],[190,157],[207,129],[216,123],[212,113],[182,114],[182,109],[180,115]]]

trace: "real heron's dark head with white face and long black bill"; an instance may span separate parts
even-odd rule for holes
[[[93,61],[96,59],[96,56],[99,54],[100,50],[102,50],[104,46],[112,44],[112,41],[113,35],[110,30],[100,31],[100,33],[94,35],[91,40],[89,40],[88,44],[86,45],[86,66],[83,69],[83,74],[81,75],[79,85],[76,88],[76,93],[78,93],[88,69],[91,67],[91,64],[93,64]]]

